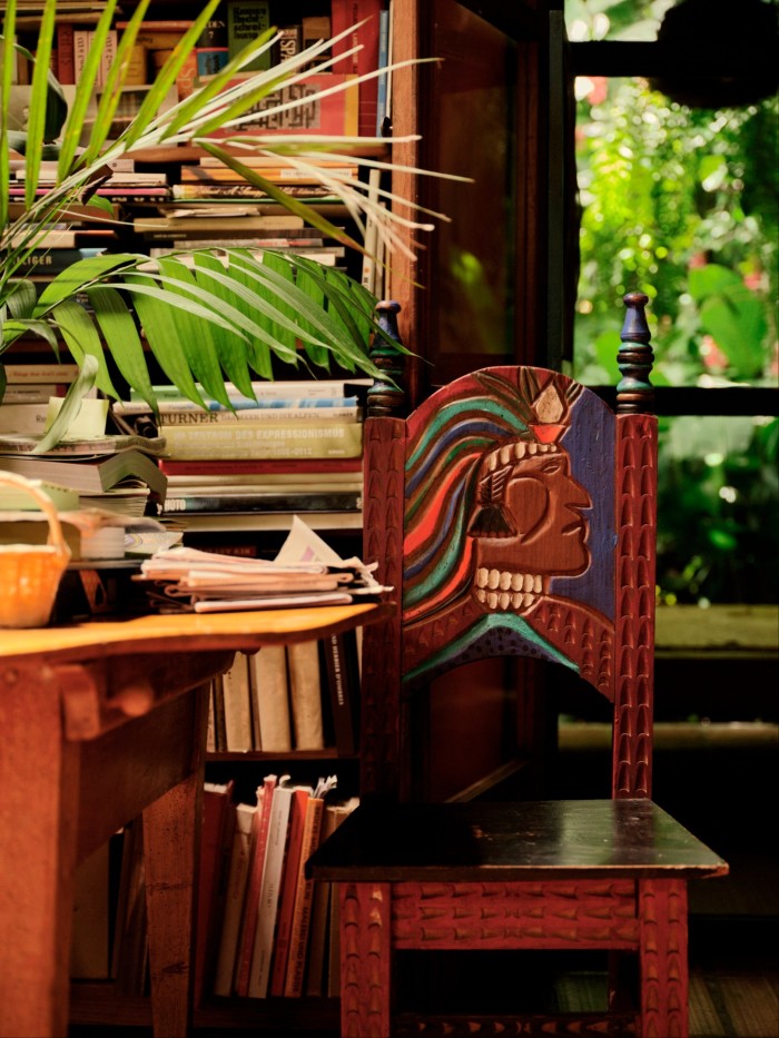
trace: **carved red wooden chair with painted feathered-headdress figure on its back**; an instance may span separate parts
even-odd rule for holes
[[[344,1035],[687,1034],[687,882],[728,867],[650,799],[657,419],[647,297],[625,303],[615,413],[563,375],[495,367],[366,423],[365,557],[398,603],[363,650],[376,795],[309,861],[339,889]],[[495,654],[563,663],[613,704],[603,800],[392,795],[421,683]],[[425,1019],[396,1005],[410,949],[603,949],[608,1008]]]

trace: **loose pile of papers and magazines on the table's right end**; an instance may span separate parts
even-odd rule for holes
[[[374,569],[341,558],[295,516],[273,561],[171,547],[141,563],[136,580],[147,583],[160,612],[213,613],[369,601],[391,590],[373,577]]]

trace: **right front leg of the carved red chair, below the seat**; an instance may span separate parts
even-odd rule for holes
[[[687,882],[639,882],[642,1038],[687,1038]]]

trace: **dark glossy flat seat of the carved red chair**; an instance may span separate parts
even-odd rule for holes
[[[727,863],[651,800],[371,803],[308,860],[336,882],[721,876]]]

